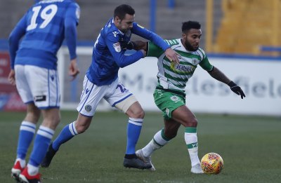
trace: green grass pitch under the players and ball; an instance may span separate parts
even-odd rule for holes
[[[25,113],[0,112],[0,116],[0,182],[14,182],[11,168]],[[183,128],[174,140],[152,155],[155,172],[124,168],[127,117],[112,111],[97,113],[86,133],[60,147],[50,167],[40,169],[42,182],[280,182],[281,118],[196,116],[199,156],[211,151],[220,154],[224,169],[219,175],[190,173]],[[62,111],[55,136],[76,118],[77,111]],[[137,149],[147,144],[162,126],[160,113],[147,113]]]

